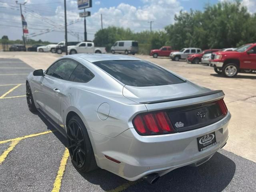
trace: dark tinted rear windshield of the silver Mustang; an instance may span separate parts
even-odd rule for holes
[[[108,60],[97,61],[94,64],[129,86],[147,87],[184,83],[174,74],[147,61]]]

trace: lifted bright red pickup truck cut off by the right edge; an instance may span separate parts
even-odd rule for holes
[[[256,43],[245,44],[235,51],[215,52],[210,66],[226,77],[235,77],[238,72],[256,70]]]

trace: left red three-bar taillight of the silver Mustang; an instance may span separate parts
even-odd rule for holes
[[[176,132],[166,112],[138,114],[134,118],[133,124],[140,135],[159,135]]]

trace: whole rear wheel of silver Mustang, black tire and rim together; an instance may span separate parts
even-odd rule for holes
[[[71,162],[76,170],[86,173],[98,168],[88,132],[78,116],[69,120],[67,138]]]

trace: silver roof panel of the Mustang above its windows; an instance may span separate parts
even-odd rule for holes
[[[68,55],[64,57],[66,58],[80,57],[89,62],[104,61],[104,60],[142,60],[132,56],[112,55],[112,54],[87,54],[87,53]]]

